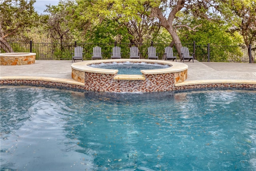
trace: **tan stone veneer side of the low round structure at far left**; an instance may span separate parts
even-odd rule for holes
[[[36,56],[1,56],[0,65],[27,65],[36,62]]]

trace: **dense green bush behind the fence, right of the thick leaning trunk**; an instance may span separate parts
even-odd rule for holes
[[[239,58],[242,56],[238,50],[242,36],[237,32],[229,32],[230,23],[222,20],[195,20],[194,18],[185,18],[184,22],[202,24],[196,32],[192,32],[186,28],[179,29],[179,36],[183,43],[196,42],[196,58],[197,60],[207,61],[207,44],[210,44],[211,61],[226,61],[228,57],[233,56]],[[236,46],[235,48],[221,48],[221,46]],[[227,55],[229,54],[229,55]],[[238,56],[237,56],[238,55]],[[236,57],[235,57],[236,56]],[[235,61],[237,59],[234,59]]]

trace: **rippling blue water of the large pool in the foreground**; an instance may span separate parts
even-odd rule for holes
[[[1,170],[256,170],[256,91],[1,87]]]

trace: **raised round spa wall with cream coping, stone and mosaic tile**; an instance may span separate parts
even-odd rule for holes
[[[92,68],[88,65],[102,62],[146,62],[168,64],[172,67],[158,70],[141,70],[142,75],[118,75],[118,70]],[[84,89],[108,92],[170,91],[175,84],[187,79],[186,64],[152,60],[98,60],[72,64],[72,78],[84,83]]]

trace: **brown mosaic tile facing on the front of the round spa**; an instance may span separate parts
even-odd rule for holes
[[[168,91],[174,87],[173,73],[144,75],[146,80],[114,80],[116,75],[85,72],[84,88],[92,91],[152,92]]]

